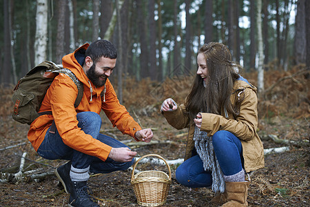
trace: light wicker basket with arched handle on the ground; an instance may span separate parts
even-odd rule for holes
[[[138,162],[141,159],[149,156],[163,159],[163,157],[160,155],[155,154],[149,154],[140,157],[132,169],[132,178],[130,183],[134,188],[134,194],[136,195],[136,199],[139,205],[161,206],[165,204],[169,186],[172,183],[171,170],[169,164],[167,164],[167,161],[163,159],[168,168],[169,176],[165,172],[157,170],[146,170],[143,172],[138,172],[136,175],[134,175],[134,169],[136,168]]]

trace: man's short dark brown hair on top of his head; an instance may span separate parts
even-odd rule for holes
[[[114,45],[105,39],[99,39],[88,46],[85,57],[89,56],[94,63],[99,61],[101,57],[107,57],[110,59],[116,59],[117,52]]]

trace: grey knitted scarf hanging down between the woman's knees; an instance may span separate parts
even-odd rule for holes
[[[214,148],[212,145],[212,137],[207,136],[207,132],[200,131],[200,128],[195,126],[194,132],[195,148],[203,161],[203,168],[207,171],[211,171],[212,175],[212,190],[215,193],[225,192],[225,181],[223,177],[223,172],[220,170],[220,165],[218,164],[218,159],[214,154]]]

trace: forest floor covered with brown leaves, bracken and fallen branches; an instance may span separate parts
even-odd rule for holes
[[[257,86],[255,72],[247,73],[244,77]],[[181,103],[190,82],[188,78],[180,77],[167,79],[163,83],[145,80],[139,86],[134,81],[126,82],[124,105],[143,128],[152,128],[154,141],[159,141],[145,146],[130,146],[138,152],[137,158],[149,153],[161,155],[166,160],[184,157],[187,131],[169,126],[159,108],[161,101],[167,97],[173,97],[177,103]],[[289,72],[265,72],[267,92],[258,103],[258,133],[265,149],[288,146],[289,150],[265,155],[265,168],[251,173],[249,206],[310,206],[309,85],[309,79],[305,78],[301,68]],[[58,179],[52,173],[65,161],[50,161],[37,155],[27,140],[29,126],[13,121],[10,116],[12,92],[1,90],[0,95],[0,206],[67,206],[69,195],[59,186]],[[120,141],[130,139],[112,128],[104,115],[102,117],[103,133]],[[271,135],[278,139],[271,139]],[[25,152],[23,179],[10,177],[5,181],[3,173],[14,175],[19,172],[21,155]],[[169,166],[172,184],[163,206],[218,206],[211,203],[214,197],[211,189],[180,186],[175,179],[177,166]],[[136,169],[167,172],[167,166],[154,164],[138,164]],[[32,179],[30,175],[25,175],[28,170],[37,170],[32,172],[34,175],[49,173]],[[139,206],[130,184],[131,177],[129,170],[118,171],[91,176],[88,184],[101,206]]]

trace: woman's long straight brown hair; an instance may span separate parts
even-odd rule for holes
[[[205,55],[207,63],[206,87],[200,75],[196,75],[192,90],[185,100],[189,117],[196,118],[198,112],[223,115],[224,109],[237,115],[238,112],[231,106],[230,96],[234,82],[239,77],[235,69],[241,69],[241,66],[231,61],[231,53],[223,43],[204,44],[198,50],[200,53]]]

